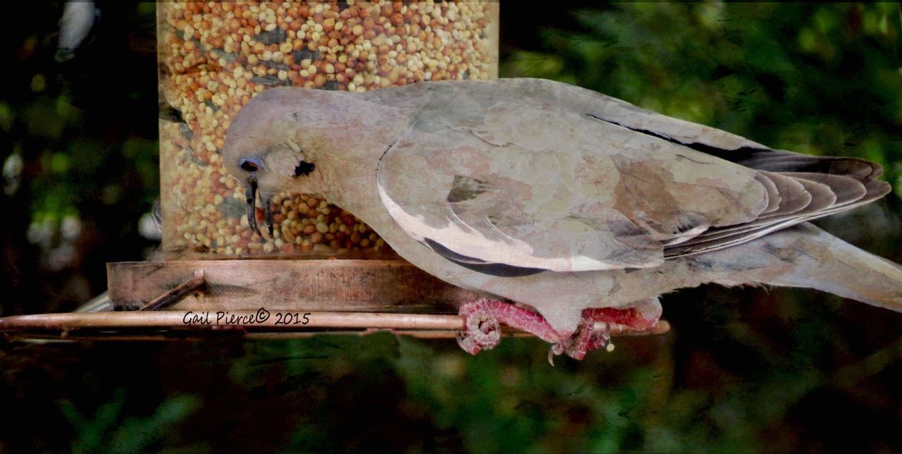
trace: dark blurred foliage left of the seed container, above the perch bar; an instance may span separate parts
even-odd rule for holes
[[[103,7],[76,58],[58,61],[62,4],[10,5],[34,20],[0,45],[0,314],[72,310],[104,291],[106,262],[152,246],[136,227],[159,193],[154,8]]]

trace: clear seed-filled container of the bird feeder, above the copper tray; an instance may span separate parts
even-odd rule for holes
[[[158,4],[162,247],[169,260],[390,258],[373,229],[327,200],[273,199],[249,227],[220,159],[238,110],[274,87],[365,91],[498,75],[498,3]],[[259,206],[259,205],[258,205]],[[262,208],[258,208],[262,221]]]

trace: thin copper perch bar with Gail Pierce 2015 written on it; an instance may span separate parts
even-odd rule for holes
[[[417,337],[446,338],[465,329],[464,319],[458,315],[329,312],[297,310],[221,310],[221,311],[141,311],[53,313],[18,315],[0,319],[0,332],[14,336],[16,331],[77,329],[234,329],[262,331],[304,331],[307,329],[387,329]],[[608,328],[596,323],[595,329]],[[662,334],[670,329],[667,321],[660,321],[654,329],[636,331],[621,325],[609,327],[612,336]],[[410,332],[408,332],[410,331]],[[507,329],[516,333],[514,329]]]

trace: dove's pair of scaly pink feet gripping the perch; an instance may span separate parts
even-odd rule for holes
[[[658,322],[657,319],[646,319],[636,309],[593,308],[583,310],[583,318],[574,333],[566,333],[551,328],[548,321],[536,312],[488,298],[464,304],[459,314],[465,317],[466,330],[457,333],[457,344],[467,353],[475,355],[498,345],[503,323],[553,343],[548,351],[548,362],[561,354],[583,359],[586,352],[607,347],[610,325],[595,330],[596,321],[616,323],[640,331],[651,329]]]

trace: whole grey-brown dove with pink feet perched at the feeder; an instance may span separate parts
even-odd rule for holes
[[[582,359],[610,349],[611,327],[654,329],[660,295],[702,283],[902,310],[899,265],[807,223],[886,195],[878,164],[774,150],[565,83],[272,88],[221,153],[258,233],[258,195],[272,236],[275,193],[315,194],[484,294],[459,307],[472,354],[506,324],[551,343],[549,360]]]

